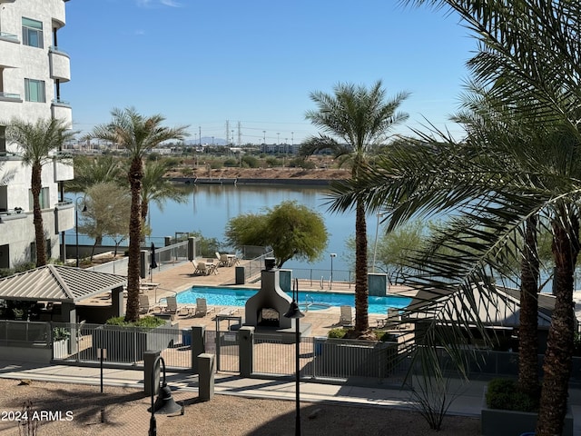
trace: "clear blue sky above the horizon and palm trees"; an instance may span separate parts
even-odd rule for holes
[[[455,16],[397,0],[73,0],[59,47],[71,55],[61,94],[74,129],[111,119],[113,107],[189,124],[196,139],[297,144],[317,129],[309,94],[337,83],[382,80],[411,93],[406,126],[448,121],[458,110],[476,41]],[[266,134],[263,134],[266,131]]]

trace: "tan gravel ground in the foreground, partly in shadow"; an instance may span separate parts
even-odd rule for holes
[[[150,398],[143,391],[129,388],[74,384],[56,384],[0,379],[0,435],[83,436],[145,435],[149,429]],[[294,434],[294,401],[257,400],[231,395],[215,395],[212,401],[198,402],[197,393],[173,392],[176,401],[184,401],[185,414],[156,415],[158,435],[229,436]],[[29,416],[38,426],[26,432],[18,427],[14,413],[25,410],[31,401]],[[104,422],[101,410],[104,409]],[[50,412],[50,413],[49,413]],[[59,418],[61,421],[55,421]],[[476,418],[448,416],[441,431],[430,431],[418,412],[391,408],[358,407],[329,403],[302,402],[302,434],[309,435],[389,435],[438,434],[451,436],[480,434]]]

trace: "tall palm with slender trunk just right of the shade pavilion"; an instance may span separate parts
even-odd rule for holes
[[[145,117],[133,107],[113,109],[109,124],[94,127],[94,138],[110,141],[123,147],[130,155],[131,164],[127,179],[131,187],[129,219],[129,263],[127,266],[127,307],[125,320],[139,319],[140,242],[142,235],[142,185],[143,157],[158,144],[187,136],[187,126],[169,128],[162,126],[160,114]]]

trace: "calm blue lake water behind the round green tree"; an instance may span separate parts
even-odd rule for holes
[[[266,207],[273,207],[283,201],[295,200],[321,213],[330,234],[329,245],[320,261],[305,263],[288,261],[284,268],[330,270],[330,253],[336,253],[333,269],[352,270],[354,257],[347,253],[345,242],[355,234],[355,212],[328,213],[325,187],[306,186],[261,186],[231,184],[184,185],[186,203],[167,202],[163,209],[154,203],[150,205],[150,225],[152,236],[173,236],[176,232],[200,232],[205,237],[225,241],[226,223],[241,213],[261,213]],[[369,229],[375,229],[375,216],[369,222]],[[369,233],[369,237],[374,235]]]

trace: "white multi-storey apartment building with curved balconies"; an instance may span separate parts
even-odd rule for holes
[[[6,123],[54,117],[73,127],[61,93],[71,79],[70,60],[58,41],[66,1],[0,0],[0,268],[35,261],[31,167],[20,159],[18,146],[7,143]],[[53,159],[43,167],[47,258],[64,259],[64,231],[74,228],[75,205],[64,201],[62,187],[74,173],[65,163]]]

